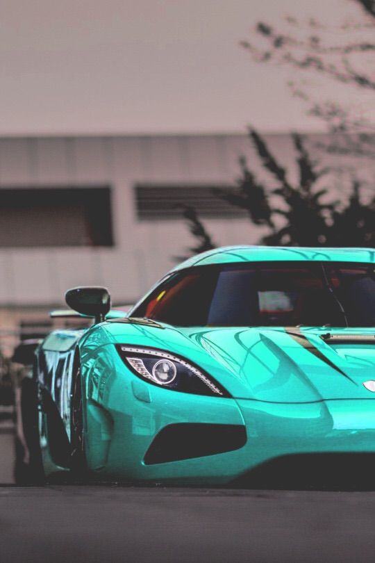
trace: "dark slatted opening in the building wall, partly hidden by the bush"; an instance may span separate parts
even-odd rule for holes
[[[202,218],[231,219],[246,217],[246,211],[228,204],[218,190],[234,191],[228,185],[209,184],[137,184],[135,200],[141,220],[178,219],[185,206],[193,207]]]

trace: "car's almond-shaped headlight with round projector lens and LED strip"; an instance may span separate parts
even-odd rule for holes
[[[126,366],[147,382],[183,393],[230,397],[213,377],[181,357],[163,350],[117,345]]]

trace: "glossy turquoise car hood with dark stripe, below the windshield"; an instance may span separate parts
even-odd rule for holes
[[[109,323],[108,323],[109,324]],[[108,334],[108,325],[106,328]],[[272,402],[374,398],[375,330],[310,327],[206,327],[111,324],[115,343],[182,355],[235,398]]]

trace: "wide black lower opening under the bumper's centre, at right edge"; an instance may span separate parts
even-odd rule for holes
[[[242,475],[231,487],[374,491],[374,475],[374,453],[283,455]]]

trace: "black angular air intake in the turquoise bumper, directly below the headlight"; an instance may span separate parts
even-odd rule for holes
[[[181,423],[160,430],[144,456],[146,465],[177,462],[238,450],[247,441],[242,425]]]

